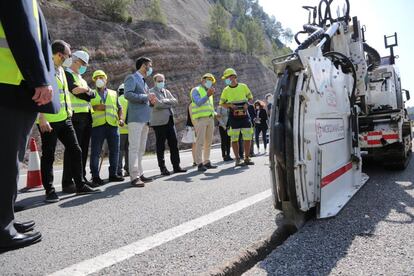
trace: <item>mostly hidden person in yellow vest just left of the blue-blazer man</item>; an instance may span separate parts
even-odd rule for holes
[[[124,125],[119,127],[119,158],[118,158],[118,175],[129,176],[129,159],[128,159],[128,125],[125,123],[126,121],[126,113],[128,110],[128,100],[125,99],[124,95],[124,84],[122,83],[118,87],[118,100],[122,106],[122,121],[124,121]],[[125,163],[123,163],[123,159],[125,157]],[[124,165],[124,166],[122,166]],[[124,167],[125,174],[122,174],[122,167]]]

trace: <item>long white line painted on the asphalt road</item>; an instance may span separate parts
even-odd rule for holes
[[[106,267],[125,261],[135,255],[142,254],[152,248],[160,246],[164,243],[170,242],[174,239],[182,237],[188,233],[191,233],[199,228],[216,222],[224,217],[239,212],[249,206],[252,206],[262,200],[267,199],[271,195],[271,190],[258,193],[254,196],[248,197],[244,200],[236,202],[232,205],[214,211],[210,214],[204,215],[194,220],[190,220],[176,227],[170,228],[166,231],[160,232],[153,236],[136,241],[129,245],[111,250],[105,254],[96,256],[89,260],[84,260],[77,264],[71,265],[62,270],[56,271],[51,276],[61,275],[88,275],[98,272]]]

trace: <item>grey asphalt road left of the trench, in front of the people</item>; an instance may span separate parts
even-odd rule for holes
[[[254,158],[253,167],[234,168],[220,155],[213,150],[217,169],[190,167],[145,188],[109,183],[100,194],[62,195],[55,204],[43,202],[41,189],[19,194],[17,204],[25,209],[17,219],[34,219],[43,240],[1,254],[0,275],[194,275],[221,266],[273,233],[277,212],[267,156]],[[183,167],[192,164],[190,152],[181,159]],[[154,156],[145,158],[144,170],[159,174]],[[59,192],[60,180],[57,170]]]

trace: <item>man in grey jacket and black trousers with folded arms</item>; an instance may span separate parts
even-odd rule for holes
[[[156,74],[154,76],[154,84],[155,86],[150,90],[150,93],[155,95],[154,100],[151,102],[152,114],[150,126],[155,131],[157,160],[161,175],[171,174],[165,166],[164,160],[166,140],[170,148],[170,159],[174,173],[186,172],[187,170],[180,167],[180,154],[174,125],[174,112],[172,110],[178,104],[178,101],[170,91],[165,89],[165,77],[163,74]]]

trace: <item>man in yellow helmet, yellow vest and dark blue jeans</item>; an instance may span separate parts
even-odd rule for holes
[[[99,155],[105,140],[108,142],[109,148],[109,182],[124,181],[122,176],[117,175],[119,157],[118,125],[124,126],[124,121],[122,120],[122,106],[118,101],[118,94],[106,87],[108,82],[106,73],[102,70],[96,70],[93,72],[92,80],[96,85],[96,97],[91,100],[94,113],[92,114],[90,167],[92,182],[100,186],[104,182],[99,177]]]

